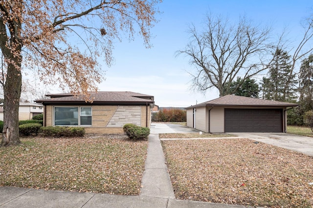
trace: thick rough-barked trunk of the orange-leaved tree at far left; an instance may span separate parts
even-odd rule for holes
[[[22,87],[22,11],[23,0],[10,5],[11,12],[0,21],[0,48],[5,58],[7,72],[3,86],[3,131],[0,145],[20,144],[19,105]]]

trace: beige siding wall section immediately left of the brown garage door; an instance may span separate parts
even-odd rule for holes
[[[224,132],[224,108],[214,107],[210,111],[210,132]]]

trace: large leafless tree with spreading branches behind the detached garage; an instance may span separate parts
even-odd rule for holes
[[[217,88],[220,96],[231,94],[230,84],[237,76],[241,83],[268,69],[270,54],[275,46],[269,44],[270,28],[253,26],[246,18],[238,24],[229,19],[208,15],[203,31],[198,32],[193,25],[189,28],[191,41],[178,55],[190,58],[196,67],[192,76],[192,89],[205,93],[207,89]]]

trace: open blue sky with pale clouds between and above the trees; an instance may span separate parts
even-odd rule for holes
[[[235,21],[245,15],[255,24],[271,24],[277,35],[288,27],[296,42],[302,30],[300,21],[313,14],[312,6],[311,0],[164,0],[159,4],[163,12],[158,17],[160,21],[152,29],[153,47],[146,49],[140,37],[132,42],[116,41],[115,62],[110,68],[102,64],[106,81],[99,85],[99,90],[154,95],[160,107],[187,107],[217,98],[215,89],[205,95],[191,92],[191,77],[186,71],[193,66],[188,57],[175,56],[189,41],[188,24],[200,26],[207,12]]]

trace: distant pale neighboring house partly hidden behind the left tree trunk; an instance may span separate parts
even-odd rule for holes
[[[37,103],[23,103],[19,106],[19,120],[31,120],[34,115],[44,113],[44,106]],[[3,103],[0,104],[0,120],[3,121]]]

